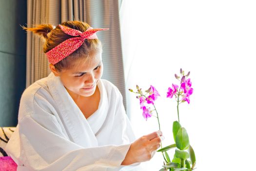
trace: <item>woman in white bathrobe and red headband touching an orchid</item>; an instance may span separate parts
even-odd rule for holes
[[[136,170],[150,160],[161,132],[135,141],[118,88],[100,79],[96,32],[106,29],[81,21],[23,28],[45,39],[52,72],[22,94],[17,130],[5,149],[18,171]]]

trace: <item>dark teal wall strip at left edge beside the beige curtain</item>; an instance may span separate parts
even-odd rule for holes
[[[17,125],[26,81],[26,0],[0,0],[0,127]]]

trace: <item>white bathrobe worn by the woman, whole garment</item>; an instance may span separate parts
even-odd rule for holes
[[[53,73],[24,91],[5,149],[18,171],[137,171],[120,166],[135,140],[122,96],[106,80],[98,88],[98,110],[87,119]]]

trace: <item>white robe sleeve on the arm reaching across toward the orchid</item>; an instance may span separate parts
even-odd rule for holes
[[[20,108],[22,117],[6,146],[18,171],[24,167],[32,171],[106,171],[120,166],[130,143],[83,148],[67,138],[53,114],[35,100],[33,104],[27,106],[21,100],[21,106],[31,108]]]

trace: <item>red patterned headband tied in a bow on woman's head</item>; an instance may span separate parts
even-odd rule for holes
[[[85,39],[98,39],[96,32],[101,30],[108,30],[108,28],[95,28],[89,27],[85,32],[69,28],[59,24],[60,29],[70,36],[78,36],[70,38],[52,48],[46,53],[49,63],[57,64],[59,61],[77,50]]]

